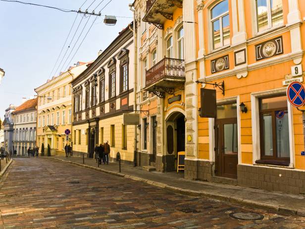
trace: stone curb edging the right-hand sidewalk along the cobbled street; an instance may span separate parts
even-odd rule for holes
[[[232,196],[230,197],[230,196],[225,196],[225,195],[217,194],[217,193],[210,193],[210,192],[206,192],[206,191],[194,191],[194,190],[190,190],[190,189],[183,189],[183,188],[171,186],[171,185],[168,185],[168,184],[165,184],[165,183],[154,182],[152,180],[139,178],[139,177],[136,177],[136,176],[133,176],[133,175],[108,171],[108,170],[100,169],[100,168],[97,168],[97,167],[80,164],[80,163],[77,163],[77,162],[66,161],[66,160],[62,160],[62,159],[59,159],[59,158],[53,158],[53,157],[49,157],[49,158],[51,158],[53,160],[58,160],[58,161],[74,164],[74,165],[77,165],[77,166],[89,168],[89,169],[94,169],[94,170],[104,172],[104,173],[107,173],[107,174],[111,174],[111,175],[115,175],[115,176],[119,176],[119,177],[124,177],[124,178],[127,178],[127,179],[131,179],[133,181],[147,183],[149,185],[153,185],[153,186],[163,188],[163,189],[166,189],[166,190],[169,190],[169,191],[173,191],[175,193],[180,193],[180,194],[183,194],[183,195],[211,198],[211,199],[220,200],[220,201],[224,201],[224,202],[230,202],[230,203],[233,203],[233,204],[240,204],[240,205],[248,206],[248,207],[252,207],[252,208],[256,207],[256,208],[260,208],[260,209],[264,209],[264,210],[275,211],[275,212],[279,212],[279,213],[287,214],[287,215],[305,216],[305,210],[299,210],[298,211],[297,209],[289,209],[289,208],[280,207],[280,206],[267,204],[267,203],[263,203],[263,202],[254,202],[252,200],[247,200],[247,199],[243,199],[243,198],[239,198],[239,197],[232,197]]]

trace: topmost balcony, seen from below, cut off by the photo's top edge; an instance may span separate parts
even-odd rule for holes
[[[183,0],[147,0],[146,14],[143,21],[153,23],[157,28],[163,29],[166,20],[173,20],[173,12],[182,8]]]

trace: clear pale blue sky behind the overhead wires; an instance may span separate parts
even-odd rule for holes
[[[78,10],[85,0],[22,1]],[[89,9],[93,10],[101,1],[96,0]],[[104,0],[96,12],[99,12],[108,1]],[[84,11],[92,2],[93,0],[87,0],[82,10]],[[133,0],[112,0],[102,10],[102,15],[131,18],[117,18],[115,26],[106,26],[103,24],[104,17],[99,17],[70,65],[77,61],[87,62],[97,58],[98,51],[104,50],[116,38],[118,32],[132,21],[133,14],[128,7],[128,4],[132,2]],[[10,103],[16,106],[20,105],[22,97],[33,97],[36,94],[34,88],[47,82],[75,17],[76,13],[73,12],[61,12],[40,6],[0,1],[0,68],[5,71],[5,76],[0,84],[0,118],[2,120],[4,110]],[[81,17],[82,15],[78,15],[67,43],[71,41]],[[67,55],[87,19],[83,19]],[[78,44],[82,41],[94,19],[95,17],[91,16]],[[78,44],[75,46],[75,51]],[[68,44],[64,47],[62,55],[67,46]],[[73,54],[74,51],[72,51],[68,61]]]

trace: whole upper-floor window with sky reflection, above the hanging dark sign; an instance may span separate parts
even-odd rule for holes
[[[213,49],[230,45],[230,18],[228,0],[223,0],[211,9]]]

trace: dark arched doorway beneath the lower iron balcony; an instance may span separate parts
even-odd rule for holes
[[[177,170],[177,155],[185,151],[185,116],[179,111],[173,112],[166,119],[166,171]]]

